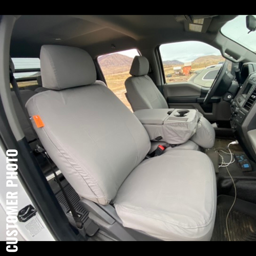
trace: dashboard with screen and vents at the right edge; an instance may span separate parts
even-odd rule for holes
[[[256,63],[244,63],[240,88],[230,104],[231,128],[248,157],[256,161]]]

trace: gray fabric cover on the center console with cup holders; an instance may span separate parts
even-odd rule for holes
[[[142,122],[152,141],[156,141],[156,138],[161,136],[160,141],[182,144],[196,133],[200,113],[197,110],[186,110],[188,111],[186,116],[177,117],[180,111],[184,110],[176,109],[170,115],[167,114],[168,109],[140,110],[134,114]]]

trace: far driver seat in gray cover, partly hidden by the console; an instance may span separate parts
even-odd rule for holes
[[[125,80],[126,97],[130,102],[133,111],[144,109],[169,109],[169,106],[157,89],[156,84],[147,75],[150,64],[144,56],[135,56],[130,70],[131,77]],[[181,144],[176,149],[199,150],[199,146],[203,148],[211,148],[215,143],[215,130],[210,122],[203,116],[197,126],[197,132],[191,141]],[[155,150],[159,143],[152,144],[152,150]],[[172,147],[167,147],[172,150]]]

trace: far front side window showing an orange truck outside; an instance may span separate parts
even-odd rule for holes
[[[166,83],[193,82],[210,87],[225,59],[221,52],[199,41],[160,46]]]

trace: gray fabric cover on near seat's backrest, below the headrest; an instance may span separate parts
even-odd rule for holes
[[[26,106],[45,124],[37,128],[32,121],[49,156],[91,201],[110,203],[150,150],[143,125],[102,84],[38,93]]]

